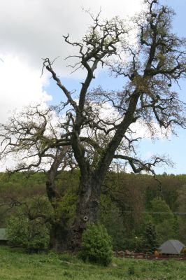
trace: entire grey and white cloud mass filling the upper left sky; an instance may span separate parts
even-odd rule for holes
[[[63,35],[80,40],[90,26],[91,18],[82,7],[103,18],[133,15],[141,0],[6,0],[0,9],[0,123],[7,111],[20,109],[30,102],[47,101],[43,90],[48,77],[41,76],[42,58],[59,56],[57,73],[66,76],[64,58],[76,50],[64,43]],[[3,62],[2,60],[3,59]],[[47,75],[47,73],[45,73]]]

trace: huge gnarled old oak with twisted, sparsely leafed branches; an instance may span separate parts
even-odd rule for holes
[[[162,133],[185,127],[185,104],[173,84],[185,78],[185,38],[171,33],[173,10],[160,1],[145,0],[144,10],[129,22],[119,18],[94,18],[93,25],[80,42],[64,41],[78,49],[73,71],[83,69],[85,80],[80,92],[70,92],[55,72],[54,61],[43,60],[43,71],[64,94],[58,106],[26,109],[1,125],[1,158],[19,156],[15,171],[45,169],[46,190],[52,206],[57,208],[60,195],[55,188],[57,172],[78,168],[80,180],[76,216],[71,228],[64,222],[54,225],[57,247],[80,248],[87,222],[96,221],[101,186],[113,160],[127,162],[134,172],[152,172],[160,157],[145,162],[136,155],[138,137],[131,125],[140,122],[150,132],[159,125]],[[134,39],[134,34],[136,38]],[[117,78],[122,76],[119,91],[90,90],[94,72],[106,67]],[[104,111],[110,110],[110,114]]]

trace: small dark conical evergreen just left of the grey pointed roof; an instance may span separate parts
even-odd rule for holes
[[[149,221],[146,225],[145,231],[143,233],[144,236],[144,249],[146,253],[154,253],[158,247],[157,241],[157,232],[155,225]]]

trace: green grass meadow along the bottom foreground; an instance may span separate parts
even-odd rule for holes
[[[0,247],[0,280],[186,280],[186,262],[178,260],[114,258],[113,264],[101,267],[67,254],[28,255],[20,249]]]

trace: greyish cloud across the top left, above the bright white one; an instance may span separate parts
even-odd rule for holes
[[[134,15],[141,8],[141,0],[6,0],[0,10],[0,52],[26,57],[29,64],[41,69],[42,57],[61,59],[57,65],[66,73],[62,59],[71,54],[71,47],[63,43],[63,35],[79,40],[91,23],[82,8],[94,14],[101,7],[103,18]]]

